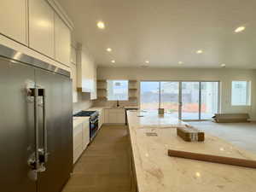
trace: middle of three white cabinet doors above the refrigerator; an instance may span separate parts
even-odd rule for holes
[[[54,58],[54,10],[44,0],[29,1],[29,46]]]

